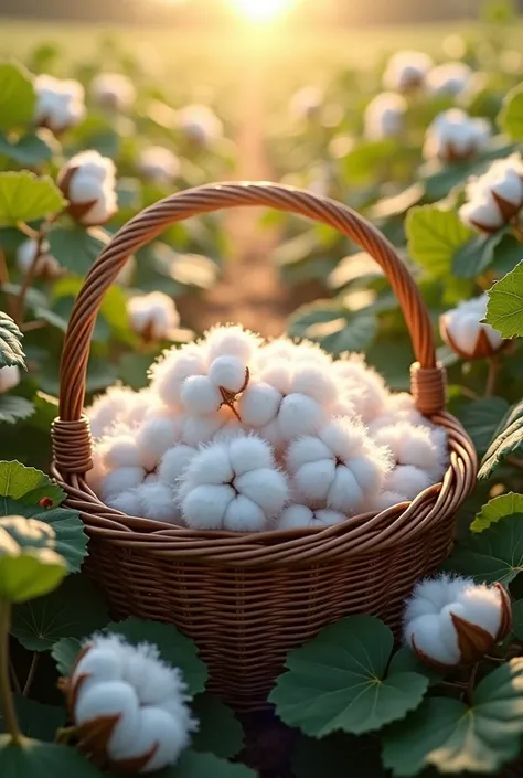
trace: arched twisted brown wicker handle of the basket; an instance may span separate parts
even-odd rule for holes
[[[63,469],[77,473],[88,469],[90,454],[86,447],[90,451],[90,438],[83,408],[89,344],[104,295],[127,258],[170,224],[238,205],[266,205],[308,216],[335,227],[366,251],[391,281],[410,333],[417,360],[410,371],[416,406],[427,415],[445,407],[445,370],[436,362],[427,308],[407,268],[382,233],[346,205],[305,190],[266,182],[210,184],[172,194],[143,210],[116,233],[87,274],[73,308],[60,366],[60,418],[53,425],[53,443]],[[78,435],[85,443],[81,447]]]

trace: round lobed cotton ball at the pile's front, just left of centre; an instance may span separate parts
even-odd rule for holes
[[[179,491],[188,526],[233,532],[266,529],[288,497],[287,481],[274,466],[269,445],[243,435],[196,454]]]

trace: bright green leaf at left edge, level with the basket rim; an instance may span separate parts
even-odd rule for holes
[[[53,500],[50,508],[55,508],[65,499],[65,492],[41,470],[25,467],[21,462],[0,461],[0,514],[8,515],[2,497],[21,500],[30,505],[38,505],[43,497]]]

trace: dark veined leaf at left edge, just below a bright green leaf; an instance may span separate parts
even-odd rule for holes
[[[44,490],[45,488],[42,491]],[[56,551],[67,563],[68,572],[79,572],[82,562],[87,556],[88,537],[77,511],[68,508],[44,508],[20,500],[0,498],[0,514],[2,512],[4,515],[17,514],[47,524],[54,532]]]

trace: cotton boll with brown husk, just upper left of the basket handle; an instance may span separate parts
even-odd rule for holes
[[[57,183],[68,212],[85,226],[105,224],[118,211],[116,168],[98,151],[82,151],[61,169]]]

